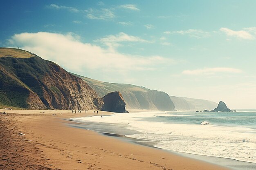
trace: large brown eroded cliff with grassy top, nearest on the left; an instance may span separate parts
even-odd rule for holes
[[[0,48],[0,108],[101,109],[102,99],[82,79],[35,54]]]

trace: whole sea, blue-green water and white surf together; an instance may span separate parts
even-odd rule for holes
[[[155,147],[256,163],[256,110],[237,112],[141,112],[74,118],[126,124],[126,135],[156,141]]]

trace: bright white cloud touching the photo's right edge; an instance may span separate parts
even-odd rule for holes
[[[236,37],[240,39],[245,39],[245,40],[253,40],[254,36],[250,32],[256,32],[255,27],[250,27],[250,28],[244,28],[243,30],[240,31],[234,31],[228,28],[220,28],[220,31],[224,32],[227,34],[227,36],[230,37]]]

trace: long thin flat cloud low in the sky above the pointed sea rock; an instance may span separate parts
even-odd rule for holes
[[[186,75],[212,75],[215,73],[242,73],[242,70],[229,67],[215,67],[182,71],[182,74]]]

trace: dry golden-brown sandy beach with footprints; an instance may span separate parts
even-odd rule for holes
[[[0,110],[4,111],[7,115],[0,114],[0,169],[227,170],[67,126],[70,121],[65,119],[97,115],[93,111],[72,114],[70,110]]]

